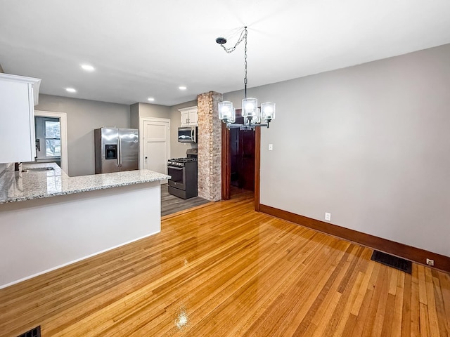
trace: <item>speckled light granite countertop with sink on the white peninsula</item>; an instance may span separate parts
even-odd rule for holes
[[[106,188],[150,183],[170,178],[149,170],[69,177],[54,163],[23,164],[22,169],[50,167],[49,171],[15,172],[11,165],[0,174],[0,204]]]

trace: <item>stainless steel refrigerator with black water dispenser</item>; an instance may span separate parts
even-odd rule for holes
[[[94,130],[96,173],[138,169],[139,137],[136,128]]]

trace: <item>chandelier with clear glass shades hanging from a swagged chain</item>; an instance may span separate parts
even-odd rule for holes
[[[275,103],[267,102],[262,103],[261,107],[258,107],[257,98],[247,97],[247,27],[244,27],[240,32],[238,42],[231,47],[226,48],[226,39],[224,37],[218,37],[216,39],[217,44],[220,44],[226,53],[232,53],[235,51],[238,44],[245,41],[245,53],[244,53],[244,99],[242,100],[242,117],[244,118],[244,124],[236,124],[236,108],[233,107],[233,103],[225,100],[219,103],[219,119],[226,123],[228,128],[240,128],[240,130],[255,130],[257,126],[267,126],[275,119]],[[264,121],[264,123],[262,123]]]

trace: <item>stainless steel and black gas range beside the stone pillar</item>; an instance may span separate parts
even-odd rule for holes
[[[186,158],[167,161],[169,193],[183,199],[197,197],[197,149],[188,149]]]

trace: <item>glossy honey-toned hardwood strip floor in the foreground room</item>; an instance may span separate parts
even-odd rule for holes
[[[449,274],[252,209],[238,194],[0,290],[0,336],[449,336]]]

